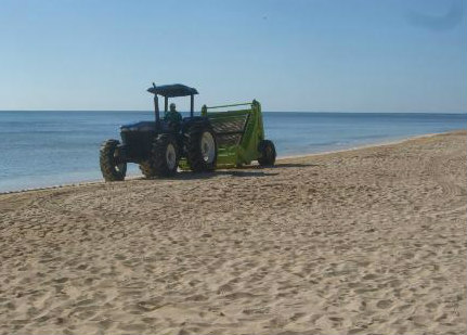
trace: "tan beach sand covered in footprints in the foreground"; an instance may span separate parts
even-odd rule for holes
[[[0,195],[0,334],[465,334],[466,140]]]

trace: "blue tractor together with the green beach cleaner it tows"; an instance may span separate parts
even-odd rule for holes
[[[205,172],[239,167],[252,160],[258,160],[260,166],[274,165],[275,147],[272,141],[264,140],[258,101],[204,105],[200,115],[195,116],[196,89],[180,83],[153,83],[147,91],[154,94],[155,120],[121,126],[121,142],[107,140],[102,143],[100,165],[105,181],[124,180],[128,163],[139,164],[146,178],[172,177],[179,169]],[[169,98],[190,96],[190,116],[180,123],[161,118],[159,95],[164,98],[166,114]],[[225,111],[232,107],[235,109]]]

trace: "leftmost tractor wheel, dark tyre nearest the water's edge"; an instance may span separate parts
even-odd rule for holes
[[[117,140],[107,140],[101,145],[99,162],[105,181],[124,180],[127,175],[127,163],[117,159],[118,144]]]

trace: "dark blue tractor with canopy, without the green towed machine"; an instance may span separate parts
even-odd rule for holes
[[[121,126],[121,142],[107,140],[102,143],[100,165],[105,181],[124,180],[127,163],[139,164],[146,178],[173,176],[181,157],[186,158],[193,171],[215,169],[215,132],[207,117],[194,116],[197,90],[180,83],[157,87],[153,83],[147,91],[154,94],[155,120]],[[190,116],[180,124],[161,119],[158,95],[164,96],[165,113],[169,98],[190,96]]]

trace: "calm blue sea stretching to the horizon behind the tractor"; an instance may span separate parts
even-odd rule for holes
[[[101,180],[99,147],[151,112],[0,112],[0,192]],[[263,113],[278,156],[467,128],[466,114]],[[129,175],[138,175],[135,165]]]

